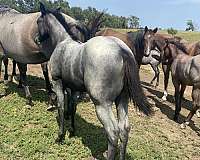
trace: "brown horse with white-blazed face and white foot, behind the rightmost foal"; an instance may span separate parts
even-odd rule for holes
[[[145,27],[145,32],[146,32],[145,40],[148,41],[148,46],[145,46],[145,47],[149,47],[149,50],[158,48],[161,53],[162,68],[164,72],[164,88],[165,88],[162,99],[167,100],[166,97],[168,95],[167,86],[168,86],[168,80],[169,80],[169,73],[170,73],[172,62],[173,62],[173,58],[176,57],[176,54],[177,54],[177,52],[173,52],[174,50],[170,48],[171,45],[168,45],[168,43],[169,42],[180,43],[184,46],[186,50],[186,54],[188,54],[189,56],[195,56],[195,55],[200,54],[200,42],[188,43],[187,41],[185,41],[184,39],[180,37],[172,37],[171,35],[167,35],[167,34],[155,33],[151,29],[148,29],[148,27]],[[148,55],[150,53],[146,53],[146,54]],[[165,58],[163,58],[163,56],[165,56]],[[185,88],[186,87],[182,88],[182,92],[183,92],[182,94],[184,94]],[[197,117],[200,117],[199,110],[197,110],[196,114],[197,114]]]

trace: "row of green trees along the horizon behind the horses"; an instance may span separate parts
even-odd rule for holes
[[[0,0],[0,4],[8,5],[22,13],[29,13],[39,10],[39,1],[43,2],[48,8],[61,7],[64,13],[85,24],[88,24],[96,15],[100,14],[100,11],[92,7],[86,9],[70,7],[66,0]],[[128,28],[130,26],[137,28],[139,26],[139,18],[135,16],[123,17],[106,13],[103,18],[102,27]]]

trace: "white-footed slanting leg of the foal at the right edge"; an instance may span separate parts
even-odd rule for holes
[[[197,109],[199,109],[199,107],[200,107],[200,89],[199,88],[194,88],[193,87],[192,100],[193,100],[192,110],[188,114],[188,116],[187,116],[186,120],[184,121],[184,123],[181,124],[181,128],[182,129],[186,128],[186,126],[189,125],[190,120],[192,119],[192,117],[196,113]]]

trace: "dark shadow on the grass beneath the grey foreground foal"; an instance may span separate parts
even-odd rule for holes
[[[67,129],[69,130],[70,123],[67,121]],[[76,132],[74,137],[80,137],[82,143],[91,150],[92,159],[104,160],[103,153],[107,150],[107,136],[103,127],[96,126],[87,122],[80,115],[75,116]],[[119,159],[119,150],[117,158]],[[126,159],[133,159],[129,154],[126,154]]]

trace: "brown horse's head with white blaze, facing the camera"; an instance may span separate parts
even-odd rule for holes
[[[155,49],[155,33],[158,31],[158,28],[155,29],[148,29],[148,27],[145,27],[144,32],[144,55],[148,56],[151,52],[151,50]]]

